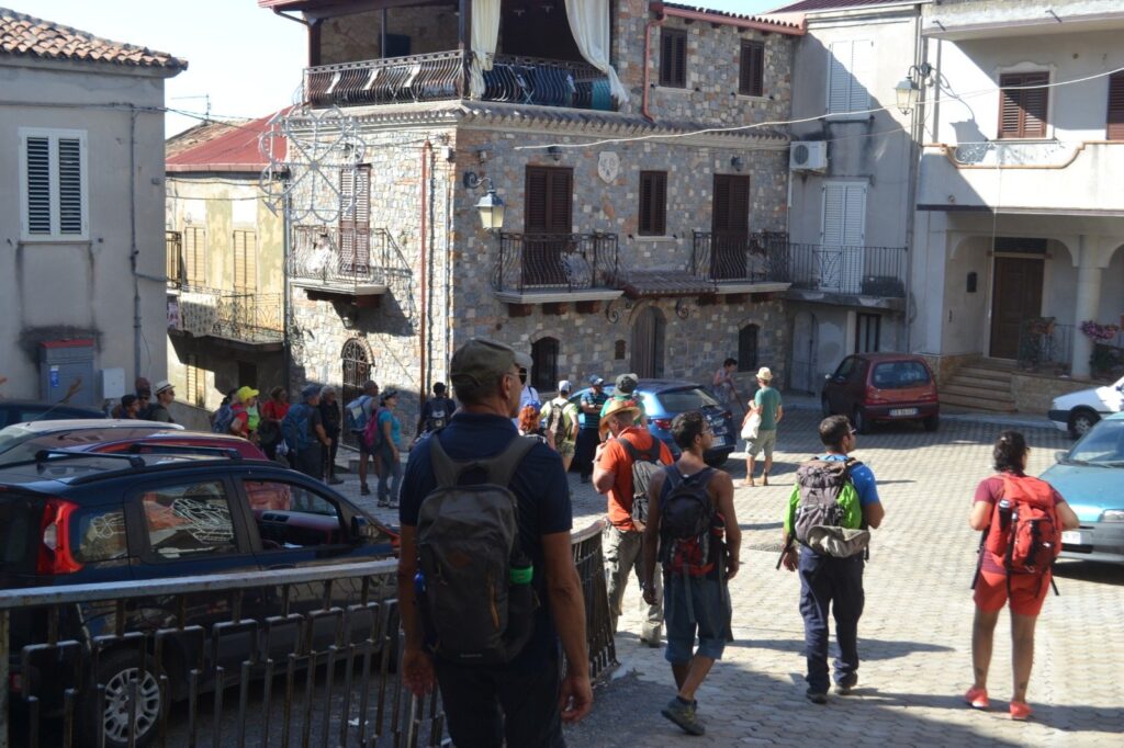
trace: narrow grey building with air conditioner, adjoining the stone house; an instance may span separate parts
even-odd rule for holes
[[[917,140],[895,86],[923,61],[925,2],[803,0],[774,11],[807,25],[790,127],[792,389],[818,392],[845,356],[908,345]]]

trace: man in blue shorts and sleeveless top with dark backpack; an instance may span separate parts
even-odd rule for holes
[[[661,713],[686,732],[703,735],[695,693],[734,638],[728,582],[741,564],[742,531],[734,513],[734,482],[703,458],[714,444],[706,418],[699,411],[679,413],[671,421],[671,435],[682,454],[649,486],[644,601],[658,602],[659,558],[668,624],[664,658],[679,690]]]

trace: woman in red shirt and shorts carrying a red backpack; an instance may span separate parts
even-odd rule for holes
[[[1062,530],[1080,526],[1077,514],[1049,483],[1026,475],[1030,455],[1018,431],[1004,431],[995,443],[996,474],[976,489],[969,524],[981,532],[972,621],[975,681],[964,694],[973,709],[987,709],[987,675],[999,612],[1009,601],[1014,691],[1009,712],[1025,720],[1033,711],[1026,686],[1034,664],[1034,624],[1053,582]]]

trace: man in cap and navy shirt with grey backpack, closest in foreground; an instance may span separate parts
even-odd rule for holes
[[[402,482],[401,676],[418,696],[441,688],[461,748],[563,746],[562,721],[593,700],[562,462],[509,420],[529,365],[490,340],[457,348],[461,409],[410,451]]]

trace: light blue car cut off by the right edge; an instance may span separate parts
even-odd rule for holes
[[[1124,564],[1124,413],[1097,422],[1042,474],[1081,520],[1061,535],[1061,555]]]

